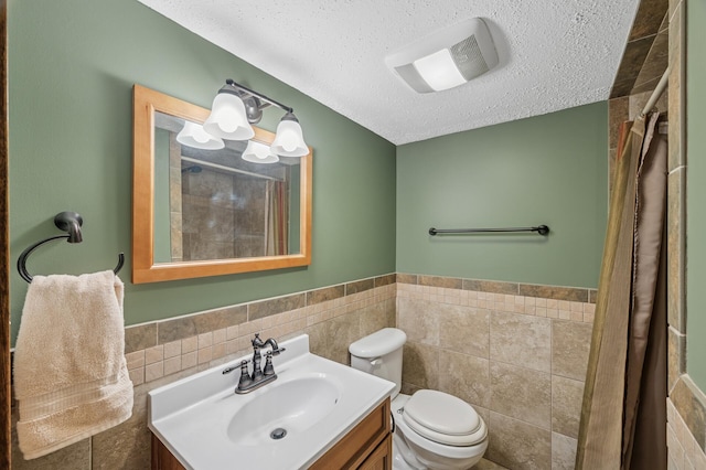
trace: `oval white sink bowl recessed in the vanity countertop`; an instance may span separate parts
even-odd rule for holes
[[[236,445],[275,446],[319,423],[341,397],[341,385],[325,374],[270,385],[231,418],[227,434]]]

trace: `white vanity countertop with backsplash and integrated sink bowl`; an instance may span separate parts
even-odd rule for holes
[[[148,426],[193,470],[310,467],[375,407],[395,384],[309,352],[309,337],[280,342],[277,380],[235,394],[246,357],[148,393]]]

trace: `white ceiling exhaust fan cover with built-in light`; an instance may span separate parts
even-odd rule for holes
[[[471,18],[389,54],[385,63],[417,93],[463,85],[498,65],[488,26]]]

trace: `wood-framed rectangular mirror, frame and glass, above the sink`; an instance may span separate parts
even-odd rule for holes
[[[133,284],[311,264],[311,149],[246,160],[248,145],[267,149],[275,139],[257,127],[250,141],[222,149],[180,143],[184,126],[208,114],[133,87]]]

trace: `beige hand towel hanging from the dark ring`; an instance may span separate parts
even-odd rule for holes
[[[17,430],[25,459],[132,414],[122,291],[113,271],[33,277],[14,349]]]

